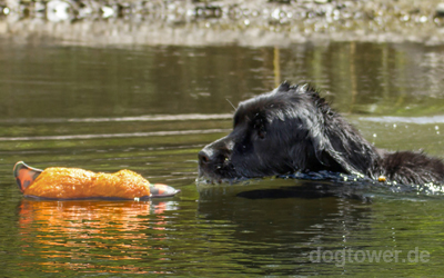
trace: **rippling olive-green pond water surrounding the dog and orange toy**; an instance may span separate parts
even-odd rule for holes
[[[291,190],[302,181],[194,181],[198,151],[231,128],[230,102],[285,79],[315,85],[377,147],[424,148],[444,158],[443,47],[93,48],[7,40],[0,53],[0,265],[8,277],[443,270],[440,192],[359,192],[372,202],[253,198],[254,190]],[[28,200],[12,177],[19,160],[37,168],[128,168],[182,192],[141,202]],[[375,262],[370,252],[386,258]]]

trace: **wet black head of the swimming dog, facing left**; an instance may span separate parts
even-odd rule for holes
[[[199,173],[212,181],[295,171],[357,173],[360,158],[346,158],[356,150],[353,141],[359,141],[360,150],[374,152],[317,92],[306,85],[283,82],[239,105],[233,131],[199,152]]]

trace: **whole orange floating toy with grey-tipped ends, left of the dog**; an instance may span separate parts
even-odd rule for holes
[[[31,198],[139,200],[171,197],[180,191],[161,183],[152,185],[130,170],[114,173],[61,167],[40,170],[20,161],[16,163],[13,172],[20,190]]]

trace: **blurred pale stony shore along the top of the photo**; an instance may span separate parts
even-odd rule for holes
[[[0,0],[0,38],[69,44],[444,43],[442,0]]]

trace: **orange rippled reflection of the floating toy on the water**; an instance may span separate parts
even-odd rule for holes
[[[19,232],[24,249],[38,247],[38,252],[24,254],[43,259],[38,264],[44,271],[59,272],[63,268],[92,270],[94,264],[84,261],[141,260],[150,249],[158,252],[164,249],[154,245],[165,239],[167,219],[163,214],[175,209],[174,201],[23,199],[19,206]],[[148,241],[152,245],[148,246]],[[23,262],[23,266],[28,265]],[[118,268],[134,272],[124,264],[119,264]]]

